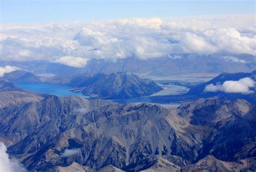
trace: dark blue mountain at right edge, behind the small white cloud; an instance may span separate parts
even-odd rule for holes
[[[255,87],[251,88],[251,94],[241,94],[241,93],[228,93],[223,91],[215,91],[215,92],[207,92],[205,91],[206,85],[221,85],[225,81],[238,81],[241,78],[249,77],[254,82],[256,81],[256,70],[252,71],[251,73],[222,73],[219,76],[213,78],[211,81],[206,83],[198,84],[193,86],[187,93],[187,95],[197,95],[198,97],[213,97],[218,96],[221,99],[246,99],[249,102],[256,103],[256,94],[255,94]]]

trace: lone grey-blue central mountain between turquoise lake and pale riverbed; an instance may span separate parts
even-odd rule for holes
[[[82,92],[91,97],[109,99],[124,99],[152,95],[163,90],[159,85],[148,79],[142,79],[132,73],[111,73],[107,75],[96,74],[85,80],[84,83],[71,81],[69,85],[76,88],[75,92]],[[92,81],[93,82],[92,82]],[[80,80],[81,81],[81,80]]]

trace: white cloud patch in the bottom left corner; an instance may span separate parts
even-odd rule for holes
[[[4,145],[3,142],[0,142],[0,171],[5,171],[5,172],[26,171],[26,169],[22,167],[17,160],[10,159],[6,151],[7,151],[6,146]]]

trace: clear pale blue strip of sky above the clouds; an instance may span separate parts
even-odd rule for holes
[[[2,1],[1,24],[254,14],[254,1]]]

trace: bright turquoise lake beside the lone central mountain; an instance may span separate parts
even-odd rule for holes
[[[24,90],[34,91],[37,93],[51,94],[59,97],[79,96],[83,98],[90,98],[89,96],[84,96],[83,94],[69,91],[71,87],[68,87],[65,85],[47,84],[47,83],[36,83],[36,84],[19,83],[17,85],[18,87],[21,87]]]

